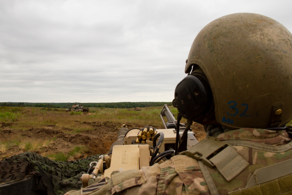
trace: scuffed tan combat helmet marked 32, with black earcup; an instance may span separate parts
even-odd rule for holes
[[[234,13],[194,39],[173,105],[201,124],[283,126],[292,118],[292,35],[279,22]]]

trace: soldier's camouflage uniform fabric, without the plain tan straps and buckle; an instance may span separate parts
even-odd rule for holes
[[[217,139],[230,142],[248,162],[247,168],[229,182],[217,169],[207,168],[216,186],[215,191],[219,194],[245,188],[252,173],[259,168],[292,159],[292,136],[282,130],[243,128],[219,134]],[[204,178],[200,162],[188,156],[177,155],[170,161],[142,167],[138,171],[115,173],[110,180],[103,179],[81,191],[70,191],[67,194],[211,194],[208,182],[206,183],[210,178]],[[290,193],[292,190],[291,187],[284,190],[283,187],[280,188],[282,191],[290,190]],[[271,187],[269,193],[277,194],[274,189],[274,186]],[[240,194],[240,190],[237,193]]]

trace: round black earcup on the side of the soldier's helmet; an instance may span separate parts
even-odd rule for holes
[[[201,118],[213,105],[211,88],[206,77],[201,74],[186,76],[176,86],[174,96],[173,106],[188,120]]]

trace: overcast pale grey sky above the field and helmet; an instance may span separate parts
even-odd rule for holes
[[[0,0],[0,102],[170,102],[205,25],[251,12],[292,32],[291,8],[291,0]]]

